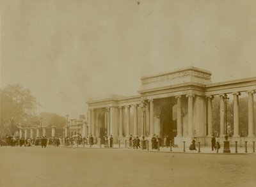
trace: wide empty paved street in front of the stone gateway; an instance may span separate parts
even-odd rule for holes
[[[256,186],[256,154],[0,147],[0,186]]]

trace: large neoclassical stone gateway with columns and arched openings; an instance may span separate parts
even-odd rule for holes
[[[220,137],[225,135],[225,94],[234,96],[234,144],[239,138],[238,100],[248,94],[248,137],[255,138],[253,94],[256,77],[211,82],[211,72],[188,67],[141,78],[136,96],[111,95],[88,100],[88,135],[113,135],[115,142],[132,136],[169,135],[175,144],[190,144],[196,137],[202,145],[211,144],[212,99],[220,97]],[[250,140],[248,139],[248,142]]]

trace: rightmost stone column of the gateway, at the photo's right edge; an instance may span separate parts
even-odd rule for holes
[[[255,91],[248,91],[248,137],[254,137],[253,119],[253,94]]]

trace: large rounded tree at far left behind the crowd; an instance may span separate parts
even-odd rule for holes
[[[31,117],[35,116],[39,103],[29,89],[19,84],[0,89],[0,97],[0,135],[12,135],[17,126],[29,123]]]

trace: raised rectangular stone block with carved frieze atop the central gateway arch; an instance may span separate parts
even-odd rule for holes
[[[202,85],[211,84],[211,71],[190,66],[180,70],[141,77],[141,90],[157,87],[195,82]]]

